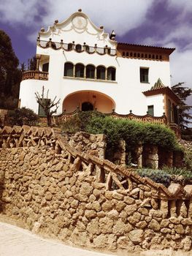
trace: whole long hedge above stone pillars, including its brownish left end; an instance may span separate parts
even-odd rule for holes
[[[63,124],[64,132],[80,130],[107,135],[107,147],[114,150],[119,140],[126,141],[126,151],[133,149],[139,143],[161,146],[169,150],[178,149],[174,132],[164,125],[115,119],[96,111],[80,111]]]

